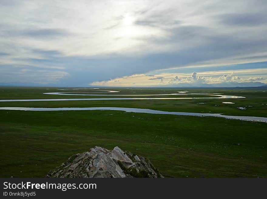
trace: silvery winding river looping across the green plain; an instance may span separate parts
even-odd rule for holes
[[[85,88],[84,88],[85,89]],[[88,89],[88,88],[87,88]],[[98,88],[93,88],[98,89]],[[58,89],[64,90],[64,89]],[[79,90],[79,89],[73,89]],[[119,91],[107,91],[107,90],[99,90],[103,92],[119,92]],[[88,93],[88,92],[79,92],[79,93]],[[100,92],[97,92],[100,93]],[[178,99],[231,99],[231,98],[245,98],[242,96],[234,96],[234,95],[220,95],[220,93],[189,93],[188,91],[180,91],[178,93],[172,94],[153,94],[153,95],[98,95],[98,94],[73,94],[66,92],[51,92],[51,93],[43,93],[46,95],[90,95],[90,96],[159,96],[159,95],[211,95],[215,97],[203,97],[203,98],[76,98],[76,99],[10,99],[10,100],[0,100],[0,102],[8,102],[8,101],[77,101],[77,100],[178,100]],[[82,110],[116,110],[116,111],[126,111],[126,112],[134,112],[134,113],[149,113],[149,114],[171,114],[171,115],[189,115],[189,116],[212,116],[212,117],[221,117],[227,119],[238,119],[245,121],[258,121],[258,122],[267,122],[267,118],[263,117],[251,117],[251,116],[231,116],[231,115],[222,115],[222,114],[211,114],[211,113],[190,113],[190,112],[170,112],[170,111],[158,111],[151,109],[143,109],[143,108],[123,108],[123,107],[88,107],[88,108],[31,108],[31,107],[0,107],[0,110],[20,110],[20,111],[82,111]]]

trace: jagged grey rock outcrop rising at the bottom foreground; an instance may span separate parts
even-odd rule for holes
[[[71,156],[46,177],[163,177],[149,160],[115,147],[96,146]]]

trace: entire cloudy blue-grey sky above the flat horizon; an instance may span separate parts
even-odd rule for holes
[[[0,85],[266,85],[266,10],[265,0],[0,0]]]

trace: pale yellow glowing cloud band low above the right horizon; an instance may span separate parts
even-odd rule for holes
[[[253,73],[257,74],[258,71],[265,72],[265,77],[255,77]],[[111,79],[109,81],[93,82],[94,86],[147,86],[147,87],[173,87],[173,86],[259,86],[264,85],[267,77],[267,69],[259,70],[247,69],[236,70],[235,73],[231,71],[204,71],[193,73],[161,73],[154,75],[153,78],[147,79],[148,74],[136,74],[128,77]],[[228,74],[227,74],[228,73]],[[164,75],[164,77],[163,77]],[[249,75],[249,76],[248,76]],[[151,81],[160,79],[160,81]],[[261,82],[259,82],[261,81]],[[255,83],[255,84],[254,84]],[[266,82],[267,83],[267,82]]]

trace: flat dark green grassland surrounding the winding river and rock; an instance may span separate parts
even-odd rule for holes
[[[0,99],[92,97],[42,94],[62,92],[57,89],[64,88],[47,90],[47,88],[1,87]],[[120,91],[109,95],[144,95],[169,94],[188,89],[100,88],[100,90]],[[205,90],[189,89],[189,91]],[[206,91],[246,98],[0,102],[0,107],[130,107],[267,117],[266,92],[210,89]],[[235,104],[222,104],[223,101]],[[246,110],[237,108],[245,106],[252,107],[247,107]],[[149,158],[165,177],[267,177],[266,128],[267,124],[263,122],[215,117],[123,111],[0,110],[0,177],[43,177],[49,170],[65,162],[69,156],[88,151],[96,145],[108,149],[118,145],[123,150]]]

